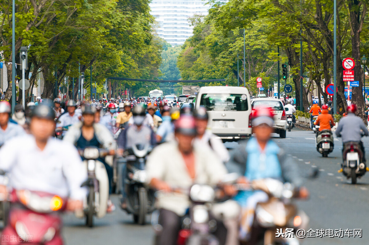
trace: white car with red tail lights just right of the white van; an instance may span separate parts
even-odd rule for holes
[[[258,106],[270,107],[274,113],[273,128],[281,138],[286,138],[287,117],[282,101],[276,98],[255,98],[251,101],[252,108]]]

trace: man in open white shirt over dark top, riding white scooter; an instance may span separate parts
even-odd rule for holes
[[[100,123],[95,123],[96,108],[86,104],[82,108],[81,122],[72,125],[65,134],[63,140],[72,143],[78,149],[85,149],[86,147],[105,148],[110,150],[110,154],[114,155],[117,149],[117,144],[109,130]],[[113,179],[113,168],[106,163],[103,158],[99,158],[106,168],[109,179],[109,193],[111,193],[111,181]],[[108,200],[108,212],[113,211],[114,204]]]

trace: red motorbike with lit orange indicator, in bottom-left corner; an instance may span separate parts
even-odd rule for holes
[[[10,222],[1,234],[14,237],[11,244],[61,245],[62,219],[59,213],[65,210],[66,199],[45,192],[13,190],[9,195]]]

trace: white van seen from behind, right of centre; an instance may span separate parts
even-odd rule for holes
[[[248,138],[251,129],[249,91],[244,87],[201,87],[195,109],[204,106],[209,115],[208,128],[223,141]]]

